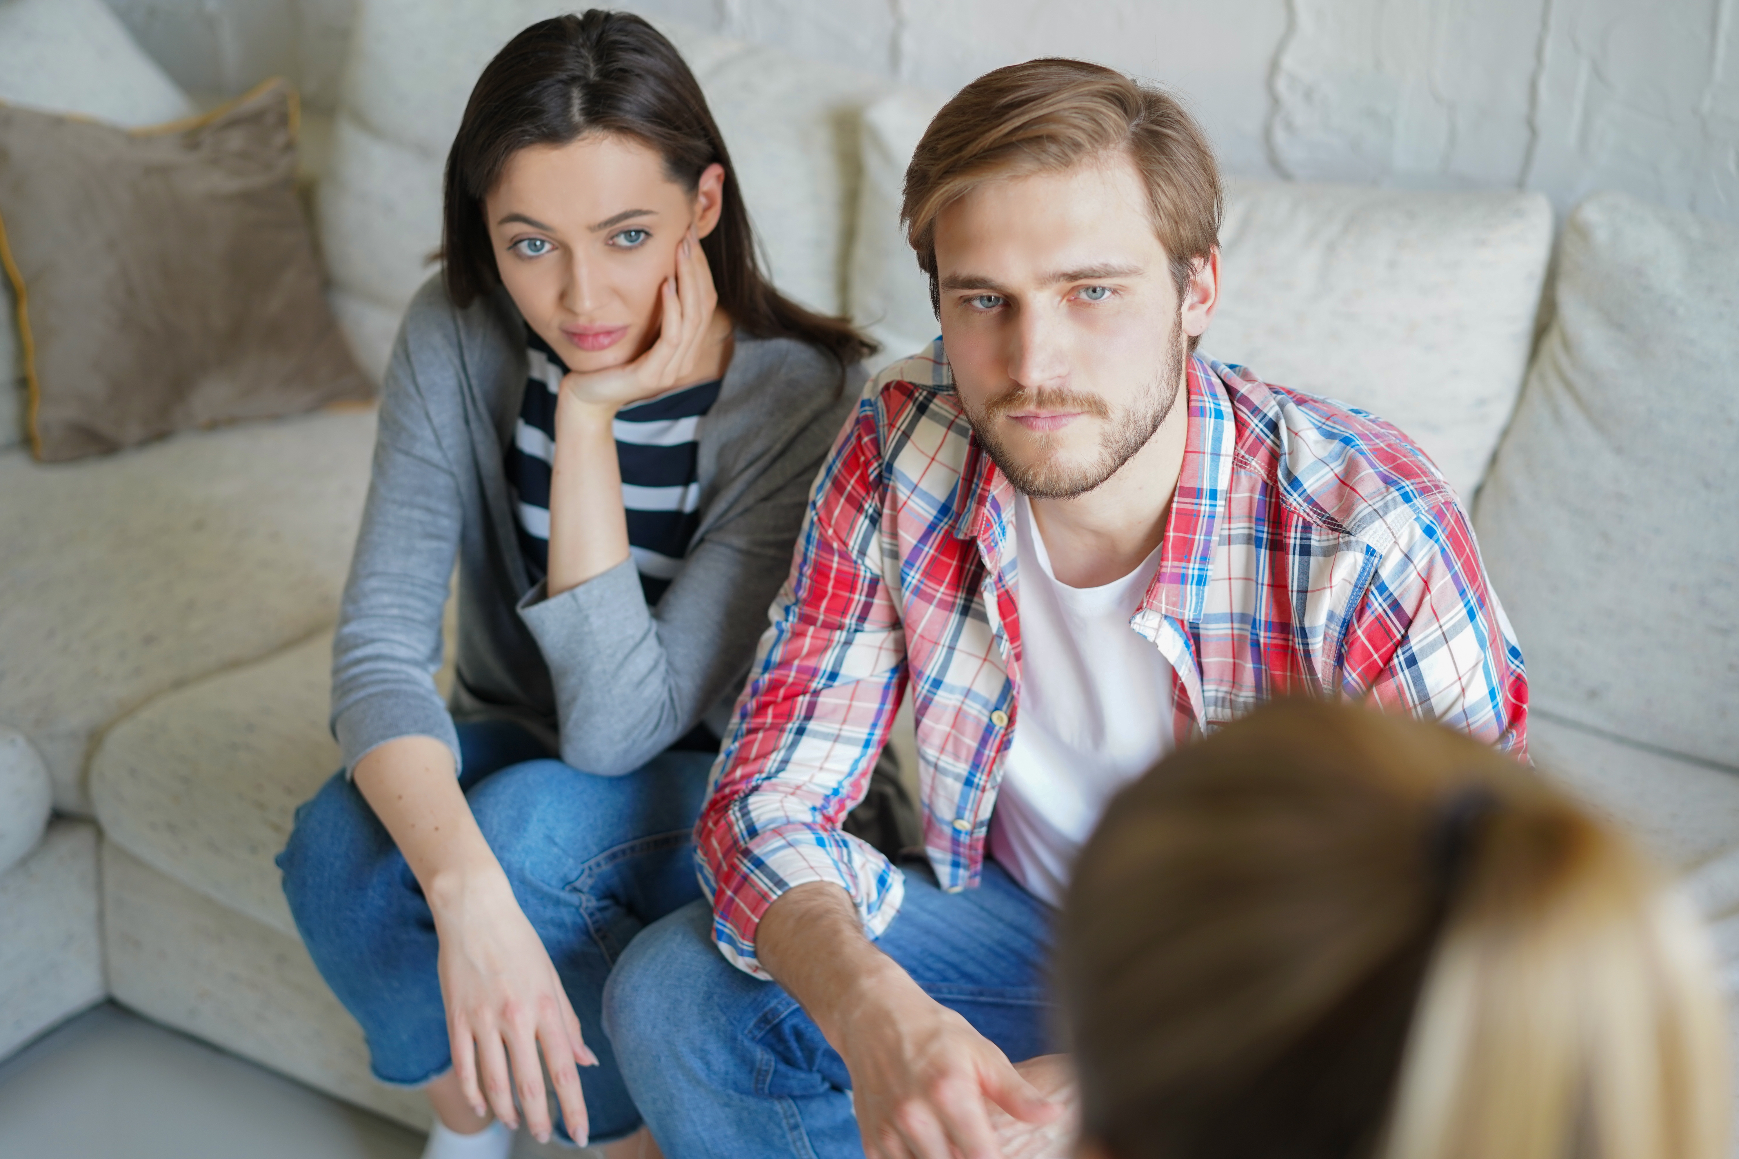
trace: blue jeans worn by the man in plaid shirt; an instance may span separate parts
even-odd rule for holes
[[[1056,1050],[1052,909],[988,862],[943,893],[908,864],[906,902],[876,945],[1014,1062]],[[603,1025],[668,1156],[863,1156],[845,1063],[796,1001],[729,964],[694,902],[649,926],[605,987]]]

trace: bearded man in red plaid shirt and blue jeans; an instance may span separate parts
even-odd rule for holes
[[[1073,61],[989,73],[930,123],[903,219],[943,337],[870,384],[816,481],[696,831],[716,917],[647,930],[607,997],[682,1159],[988,1159],[1056,1129],[1075,851],[1116,787],[1276,693],[1525,756],[1522,657],[1431,462],[1193,356],[1219,177],[1172,99]],[[901,872],[840,820],[908,685]]]

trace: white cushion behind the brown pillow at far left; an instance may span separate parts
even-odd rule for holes
[[[101,0],[0,0],[0,101],[155,125],[195,111]],[[0,275],[0,447],[23,441],[24,351]]]

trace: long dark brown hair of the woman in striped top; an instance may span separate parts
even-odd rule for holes
[[[483,221],[483,198],[508,158],[532,144],[619,134],[664,158],[664,172],[694,191],[713,162],[725,169],[723,212],[703,242],[718,306],[755,337],[793,337],[843,365],[875,351],[843,318],[781,295],[762,273],[755,233],[725,139],[682,54],[638,16],[591,9],[532,24],[496,54],[471,89],[447,155],[442,255],[447,294],[470,306],[501,281]]]

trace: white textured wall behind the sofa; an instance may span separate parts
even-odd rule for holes
[[[110,0],[195,92],[336,101],[356,0]],[[1739,222],[1739,0],[628,0],[936,90],[1031,56],[1184,92],[1228,170],[1616,188]]]

